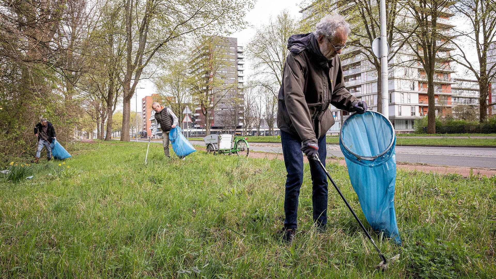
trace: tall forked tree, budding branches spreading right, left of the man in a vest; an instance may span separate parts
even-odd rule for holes
[[[198,31],[229,33],[244,25],[251,0],[125,0],[126,72],[123,131],[129,129],[131,98],[152,58],[186,34]],[[129,136],[121,138],[128,141]]]

